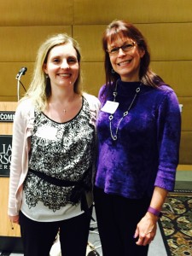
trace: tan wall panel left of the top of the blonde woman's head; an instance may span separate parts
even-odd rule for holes
[[[0,26],[1,62],[34,61],[39,45],[52,34],[67,32],[71,26]]]

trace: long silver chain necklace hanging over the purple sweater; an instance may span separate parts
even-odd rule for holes
[[[117,84],[117,82],[116,82],[116,85],[115,85],[115,88],[114,88],[114,91],[113,91],[113,96],[114,96],[113,102],[115,102],[116,96],[118,95],[118,93],[117,93],[117,85],[118,85],[118,84]],[[111,113],[111,114],[109,115],[109,117],[108,117],[108,119],[109,119],[109,128],[110,128],[110,133],[111,133],[111,137],[112,137],[113,141],[116,141],[116,140],[117,140],[118,131],[119,131],[119,125],[120,125],[121,121],[125,118],[125,116],[129,113],[129,111],[130,111],[130,109],[131,109],[131,107],[132,107],[132,104],[133,104],[133,103],[135,102],[135,100],[136,100],[137,94],[138,94],[139,91],[141,90],[140,87],[141,87],[141,84],[139,84],[139,86],[137,87],[136,93],[135,93],[135,95],[134,95],[134,97],[133,97],[133,99],[132,99],[132,101],[131,101],[131,104],[130,104],[129,108],[127,108],[127,110],[123,113],[123,116],[119,119],[119,123],[118,123],[118,125],[117,125],[117,128],[116,128],[116,131],[115,131],[114,135],[113,135],[113,131],[112,131],[113,114]]]

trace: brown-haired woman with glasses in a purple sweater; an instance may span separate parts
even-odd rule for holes
[[[103,256],[145,256],[174,189],[181,118],[177,96],[149,68],[143,34],[114,20],[102,38],[95,206]]]

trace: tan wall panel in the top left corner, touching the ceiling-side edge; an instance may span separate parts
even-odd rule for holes
[[[0,26],[61,26],[73,24],[73,1],[0,1]]]

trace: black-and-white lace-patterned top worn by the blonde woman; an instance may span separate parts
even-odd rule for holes
[[[91,190],[95,127],[90,125],[89,103],[83,99],[79,113],[66,123],[57,123],[44,113],[35,111],[29,169],[74,182],[79,182],[84,172],[90,170],[84,177],[84,183]],[[73,201],[70,201],[73,186],[60,187],[31,172],[26,176],[23,190],[21,210],[31,218],[31,209],[32,212],[42,212],[43,207],[46,218],[46,211],[49,215],[50,212],[61,212],[68,204],[74,206]]]

